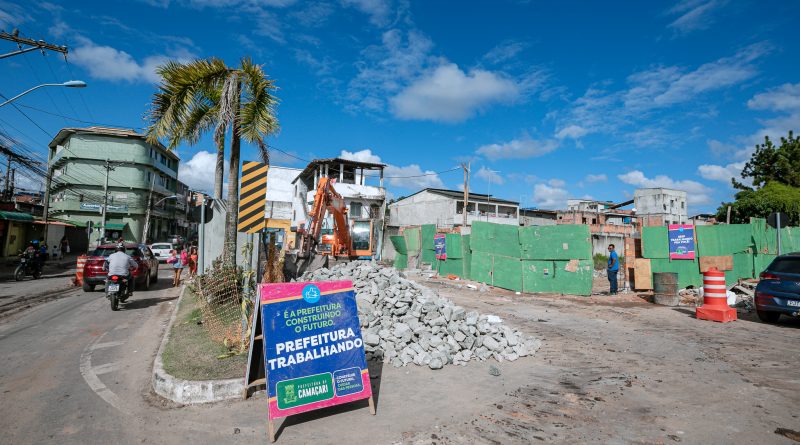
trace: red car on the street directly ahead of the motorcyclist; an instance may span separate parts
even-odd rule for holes
[[[109,255],[116,252],[116,244],[102,244],[86,258],[83,268],[83,291],[92,292],[95,286],[105,286],[106,276],[103,264]],[[131,256],[138,267],[133,270],[133,281],[137,290],[150,289],[150,284],[158,281],[158,260],[146,244],[125,244],[125,253]]]

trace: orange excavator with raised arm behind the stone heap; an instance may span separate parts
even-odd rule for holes
[[[372,223],[349,220],[347,205],[336,192],[334,182],[322,177],[317,183],[308,225],[297,230],[300,235],[297,252],[287,253],[284,261],[286,279],[296,278],[307,270],[328,267],[332,262],[372,255]],[[332,216],[333,230],[322,234],[327,214]]]

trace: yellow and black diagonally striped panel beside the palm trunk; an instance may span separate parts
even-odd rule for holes
[[[266,224],[267,170],[261,162],[242,163],[242,185],[239,187],[238,231],[256,233]]]

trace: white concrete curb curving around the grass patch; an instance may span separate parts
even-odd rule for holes
[[[243,378],[226,380],[184,380],[173,377],[164,370],[164,363],[161,360],[161,355],[164,353],[164,348],[169,341],[172,325],[175,324],[175,319],[178,317],[178,307],[185,293],[186,286],[183,286],[178,302],[172,310],[172,316],[167,324],[164,337],[161,339],[161,345],[158,347],[156,360],[153,363],[153,390],[159,396],[183,405],[241,399],[245,388]]]

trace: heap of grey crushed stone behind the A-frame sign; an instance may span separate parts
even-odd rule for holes
[[[401,367],[441,369],[470,360],[514,361],[541,341],[505,326],[498,317],[467,311],[436,291],[373,261],[306,272],[298,281],[352,280],[368,358]]]

